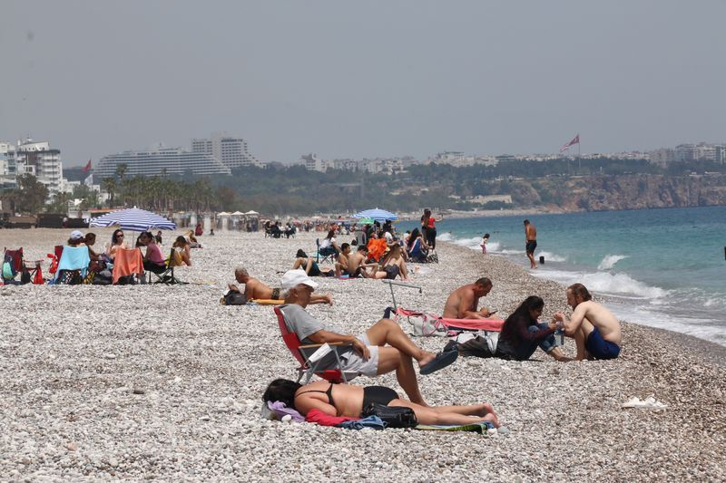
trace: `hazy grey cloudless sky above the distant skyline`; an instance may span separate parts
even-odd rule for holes
[[[726,142],[726,2],[0,6],[0,140],[64,166],[226,131],[262,161]]]

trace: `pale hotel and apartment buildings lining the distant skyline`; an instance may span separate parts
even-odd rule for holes
[[[534,155],[469,155],[461,151],[444,151],[436,156],[419,160],[410,156],[401,158],[375,159],[320,159],[317,154],[305,154],[292,164],[298,164],[310,171],[325,172],[328,169],[343,169],[368,173],[394,173],[406,170],[414,164],[446,164],[451,166],[472,166],[484,164],[494,166],[503,161],[533,160],[545,161],[562,158],[562,154]],[[573,158],[572,155],[568,157]],[[582,159],[646,159],[661,166],[671,162],[710,160],[726,163],[726,143],[680,144],[675,148],[652,151],[628,151],[619,153],[589,153]],[[250,154],[247,141],[226,133],[213,133],[210,138],[191,140],[191,149],[157,147],[151,150],[128,150],[104,156],[93,167],[93,175],[84,184],[100,189],[93,179],[113,177],[119,166],[124,165],[124,176],[163,175],[230,175],[231,170],[240,167],[264,167]],[[15,188],[16,179],[32,174],[48,188],[50,197],[59,192],[71,192],[80,181],[64,179],[60,150],[52,148],[48,141],[26,139],[17,143],[0,141],[0,189]]]

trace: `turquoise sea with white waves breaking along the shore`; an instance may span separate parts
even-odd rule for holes
[[[622,320],[726,345],[726,207],[452,218],[437,223],[437,240],[481,253],[488,233],[490,256],[528,268],[525,218],[544,256],[532,275],[580,282]]]

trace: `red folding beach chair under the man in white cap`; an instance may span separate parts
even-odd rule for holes
[[[289,332],[288,324],[285,324],[285,314],[282,312],[280,307],[274,308],[275,314],[278,316],[278,324],[280,324],[280,333],[282,334],[282,340],[285,345],[288,346],[289,352],[299,362],[298,368],[298,382],[305,376],[305,384],[310,381],[313,374],[325,379],[329,382],[348,382],[353,378],[357,377],[358,372],[344,371],[342,364],[340,363],[340,356],[338,355],[338,348],[348,346],[344,343],[328,343],[330,349],[335,354],[336,367],[337,369],[326,369],[319,370],[318,366],[320,361],[310,362],[310,356],[315,353],[322,345],[321,343],[312,343],[308,345],[300,344],[298,334]]]

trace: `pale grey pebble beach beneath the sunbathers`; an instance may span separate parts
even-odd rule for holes
[[[112,230],[93,231],[101,244]],[[3,229],[0,244],[47,260],[69,233]],[[163,236],[165,251],[173,237]],[[261,419],[262,391],[294,380],[297,365],[270,306],[220,298],[235,266],[279,286],[315,237],[200,237],[193,266],[176,271],[189,285],[0,287],[0,481],[726,479],[726,348],[628,322],[614,361],[560,363],[538,350],[527,362],[459,358],[418,376],[429,404],[491,402],[508,434]],[[564,286],[503,257],[443,242],[437,252],[439,264],[409,266],[422,293],[397,288],[398,304],[439,314],[456,287],[488,276],[483,304],[499,315],[528,295],[544,298],[543,320],[568,310]],[[334,304],[309,313],[349,333],[391,304],[378,280],[317,281]],[[446,338],[415,341],[437,352]],[[571,339],[564,352],[574,356]],[[395,374],[353,383],[402,392]],[[651,395],[666,407],[622,408]]]

